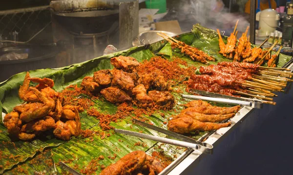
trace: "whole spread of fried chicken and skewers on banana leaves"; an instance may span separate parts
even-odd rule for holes
[[[241,107],[190,100],[182,94],[198,89],[269,103],[292,81],[292,73],[284,69],[230,62],[227,57],[234,58],[242,48],[234,47],[237,31],[229,44],[224,39],[225,45],[221,43],[227,57],[218,54],[219,43],[209,47],[217,33],[199,25],[182,38],[162,36],[171,44],[159,41],[156,47],[21,73],[0,84],[5,114],[0,116],[0,174],[68,174],[63,163],[84,175],[166,174],[174,168],[171,162],[187,156],[186,148],[114,129],[167,137],[136,119],[198,140],[233,126],[229,120]],[[254,51],[245,37],[242,60]],[[277,55],[268,64],[280,67],[289,60]]]

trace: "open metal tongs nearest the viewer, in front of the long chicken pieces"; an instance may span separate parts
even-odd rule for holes
[[[162,143],[167,143],[167,144],[171,144],[171,145],[190,148],[190,149],[196,150],[196,151],[198,151],[200,153],[204,153],[204,154],[209,154],[209,155],[212,154],[213,146],[210,145],[209,143],[200,142],[195,139],[189,138],[187,136],[183,136],[181,134],[177,134],[177,133],[174,133],[174,132],[147,124],[147,123],[145,123],[143,121],[139,121],[137,119],[134,119],[134,123],[139,124],[141,126],[144,126],[146,128],[158,131],[160,133],[166,134],[168,136],[177,138],[182,141],[174,140],[174,139],[170,139],[170,138],[164,138],[164,137],[160,137],[160,136],[151,136],[151,135],[147,135],[147,134],[142,134],[142,133],[128,131],[128,130],[122,130],[122,129],[114,129],[114,131],[116,133],[121,133],[121,134],[129,135],[129,136],[136,136],[136,137],[146,138],[146,139],[150,139],[150,140],[154,140],[154,141],[158,141],[158,142],[162,142]]]

